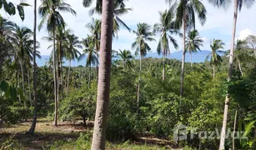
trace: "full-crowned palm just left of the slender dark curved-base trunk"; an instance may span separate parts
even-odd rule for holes
[[[29,28],[19,27],[16,23],[13,23],[10,28],[12,31],[10,38],[14,47],[17,49],[14,59],[20,64],[22,71],[23,92],[25,92],[24,62],[26,62],[25,60],[27,59],[32,59],[33,40],[30,38],[32,37],[33,32]],[[27,107],[26,100],[24,101],[24,107]]]

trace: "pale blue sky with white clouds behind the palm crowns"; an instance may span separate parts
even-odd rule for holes
[[[12,0],[13,3],[27,2],[32,7],[25,7],[25,20],[22,21],[18,14],[15,16],[8,16],[3,10],[0,13],[3,17],[12,20],[15,23],[18,23],[21,26],[33,29],[33,0]],[[88,11],[90,7],[83,7],[83,0],[66,0],[65,2],[69,3],[71,7],[77,12],[77,16],[73,16],[69,13],[61,13],[65,22],[68,24],[68,28],[73,30],[73,33],[78,36],[80,39],[87,37],[89,34],[88,29],[85,28],[87,23],[92,22],[92,18],[100,18],[98,15],[89,16]],[[233,4],[230,7],[223,9],[213,7],[208,1],[202,1],[206,7],[207,21],[201,26],[198,21],[196,21],[196,29],[200,34],[200,37],[203,38],[203,47],[202,50],[210,50],[211,39],[222,39],[226,43],[225,49],[229,49],[231,41],[231,32],[233,26]],[[38,0],[38,6],[40,6],[41,1]],[[95,6],[95,0],[94,4]],[[163,12],[165,9],[168,9],[168,4],[165,0],[128,0],[126,6],[133,8],[133,11],[130,11],[127,14],[124,14],[120,18],[128,27],[136,30],[137,23],[148,23],[153,26],[154,23],[159,22],[159,12]],[[238,23],[236,28],[236,39],[244,39],[249,34],[256,33],[256,18],[255,18],[256,4],[254,4],[249,9],[243,7],[242,11],[238,13]],[[38,23],[42,18],[38,16]],[[38,49],[41,52],[41,55],[49,55],[50,50],[47,49],[49,42],[46,42],[42,37],[47,37],[48,32],[46,28],[42,28],[38,32],[37,40],[40,42],[40,48]],[[176,50],[173,46],[171,47],[171,52],[182,50],[182,39],[178,36],[173,36],[178,42],[178,49]],[[134,50],[131,49],[131,43],[134,42],[134,34],[128,32],[127,29],[121,28],[118,32],[118,38],[113,38],[113,49],[128,49],[134,53]],[[152,52],[156,52],[156,47],[158,45],[158,36],[155,37],[156,42],[149,42],[149,46],[152,49]],[[83,49],[81,49],[81,52]]]

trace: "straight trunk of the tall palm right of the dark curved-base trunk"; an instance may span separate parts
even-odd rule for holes
[[[56,55],[55,55],[55,24],[53,24],[53,78],[54,78],[54,102],[55,102],[55,110],[54,110],[54,126],[58,126],[58,93],[57,93],[57,76],[56,76]]]

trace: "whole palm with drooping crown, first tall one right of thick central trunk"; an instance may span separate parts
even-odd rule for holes
[[[137,105],[139,102],[139,92],[140,92],[140,80],[142,72],[142,59],[147,55],[147,52],[151,50],[148,46],[147,41],[154,41],[152,37],[153,32],[150,31],[151,27],[147,23],[138,23],[137,31],[133,31],[136,34],[135,42],[132,43],[132,48],[135,49],[135,55],[140,56],[139,59],[139,75],[138,75],[138,95],[137,95]],[[138,106],[137,106],[138,107]]]

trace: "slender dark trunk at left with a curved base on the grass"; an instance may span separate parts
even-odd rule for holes
[[[37,44],[37,0],[34,0],[34,28],[33,28],[33,100],[34,100],[34,114],[33,122],[28,133],[35,133],[38,117],[38,99],[37,99],[37,67],[36,67],[36,44]]]

